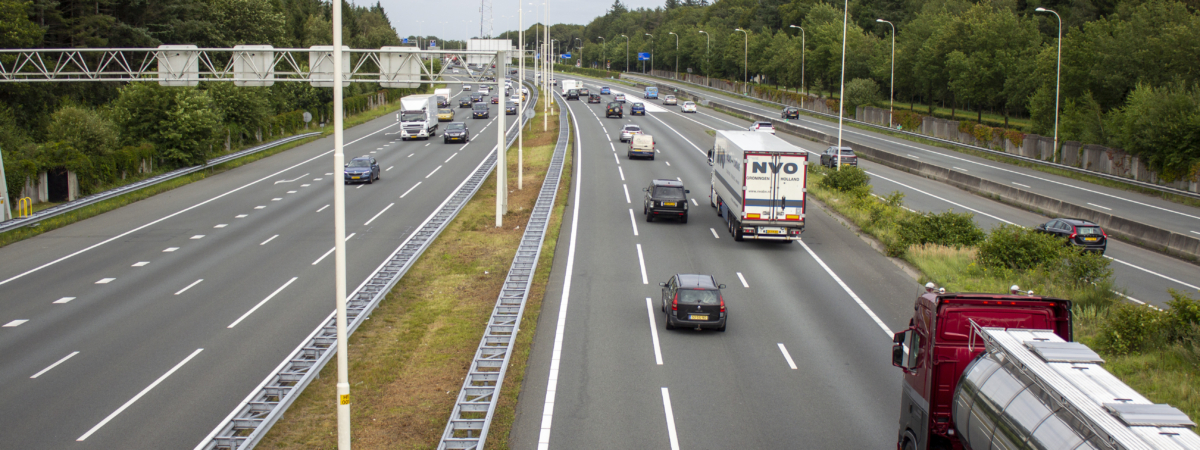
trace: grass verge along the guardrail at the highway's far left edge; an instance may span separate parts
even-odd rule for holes
[[[360,114],[355,114],[355,115],[348,116],[348,118],[344,119],[344,128],[350,128],[350,127],[354,127],[356,125],[366,124],[367,121],[374,120],[374,119],[377,119],[377,118],[379,118],[379,116],[382,116],[384,114],[392,113],[392,112],[395,112],[398,108],[400,108],[400,102],[388,103],[388,104],[384,104],[384,106],[382,106],[379,108],[376,108],[376,109],[372,109],[372,110],[367,110],[367,112],[362,112]],[[300,139],[300,140],[290,142],[290,143],[287,143],[287,144],[283,144],[283,145],[280,145],[280,146],[275,146],[275,148],[271,148],[271,149],[266,149],[266,150],[259,151],[257,154],[253,154],[253,155],[246,155],[246,156],[242,156],[242,157],[233,160],[233,161],[227,161],[224,163],[205,168],[204,170],[200,170],[200,172],[196,172],[196,173],[192,173],[192,174],[188,174],[188,175],[185,175],[185,176],[180,176],[180,178],[176,178],[176,179],[173,179],[173,180],[167,180],[167,181],[152,185],[152,186],[143,187],[140,190],[137,190],[137,191],[133,191],[133,192],[130,192],[130,193],[126,193],[126,194],[122,194],[122,196],[119,196],[119,197],[109,198],[109,199],[106,199],[103,202],[97,202],[95,204],[91,204],[91,205],[77,209],[74,211],[64,212],[64,214],[60,214],[60,215],[54,216],[54,217],[48,217],[48,218],[46,218],[46,220],[43,220],[43,221],[36,223],[35,226],[31,226],[31,227],[20,227],[20,228],[17,228],[17,229],[11,229],[11,230],[5,232],[5,233],[0,233],[0,247],[4,247],[6,245],[13,244],[13,242],[19,242],[19,241],[23,241],[23,240],[29,239],[29,238],[34,238],[34,236],[40,235],[40,234],[46,233],[46,232],[55,230],[55,229],[66,227],[68,224],[83,221],[83,220],[88,220],[88,218],[98,216],[101,214],[104,214],[104,212],[112,211],[114,209],[118,209],[118,208],[121,208],[121,206],[136,203],[138,200],[143,200],[143,199],[146,199],[146,198],[150,198],[150,197],[154,197],[154,196],[157,196],[160,193],[174,190],[176,187],[185,186],[185,185],[188,185],[188,184],[203,180],[205,178],[209,178],[209,176],[212,176],[212,175],[216,175],[216,174],[221,174],[221,173],[224,173],[227,170],[232,170],[234,168],[238,168],[238,167],[252,163],[254,161],[265,158],[268,156],[272,156],[272,155],[277,155],[277,154],[287,151],[287,150],[292,150],[292,149],[294,149],[296,146],[300,146],[300,145],[311,143],[313,140],[320,139],[320,138],[323,138],[325,136],[332,134],[334,133],[334,126],[332,125],[326,125],[324,127],[312,127],[310,130],[300,130],[300,131],[296,132],[296,134],[311,133],[311,132],[320,132],[322,134],[317,136],[317,137],[312,137],[312,138],[306,138],[306,139]],[[281,139],[283,137],[281,137]],[[233,151],[238,151],[238,150],[233,150]],[[233,151],[230,151],[230,152],[233,152]],[[220,156],[220,155],[216,155],[216,156]],[[144,180],[146,178],[150,178],[152,175],[157,175],[160,173],[162,173],[162,172],[152,173],[152,174],[145,174],[142,178],[130,178],[128,180],[125,180],[125,181],[126,181],[126,184],[130,184],[130,182],[134,182],[134,181],[138,181],[138,180]],[[121,185],[113,185],[113,186],[109,186],[109,187],[118,187],[118,186],[121,186]],[[35,204],[34,205],[34,211],[41,211],[43,209],[47,209],[47,208],[50,208],[50,206],[54,206],[54,205],[58,205],[58,204],[59,203],[54,203],[54,204],[50,204],[50,203]]]

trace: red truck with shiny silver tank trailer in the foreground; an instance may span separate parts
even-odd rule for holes
[[[925,284],[893,336],[904,370],[898,450],[1200,449],[1188,415],[1154,404],[1072,342],[1070,301]]]

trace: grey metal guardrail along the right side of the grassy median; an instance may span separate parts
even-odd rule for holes
[[[521,329],[521,317],[524,313],[526,300],[529,298],[529,287],[533,284],[534,272],[538,270],[538,258],[541,257],[541,246],[546,238],[550,215],[554,209],[558,184],[563,176],[563,163],[570,140],[566,108],[559,109],[558,118],[558,144],[554,145],[550,168],[541,184],[541,192],[538,193],[538,202],[529,215],[529,222],[526,224],[524,235],[521,236],[517,253],[512,257],[512,265],[509,266],[509,275],[504,278],[504,287],[500,289],[499,298],[496,299],[496,307],[487,322],[487,330],[479,341],[475,358],[462,382],[462,389],[458,390],[458,398],[450,413],[446,428],[442,432],[438,450],[482,449],[484,442],[487,439],[487,431],[496,413],[496,403],[499,401],[504,385],[504,376],[508,373],[512,346],[516,343],[517,331]]]

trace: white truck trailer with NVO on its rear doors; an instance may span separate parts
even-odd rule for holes
[[[774,134],[719,130],[709,204],[734,240],[800,239],[808,151]]]

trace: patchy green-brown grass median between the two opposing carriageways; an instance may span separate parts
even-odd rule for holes
[[[526,139],[526,186],[510,179],[510,212],[494,227],[496,176],[425,251],[349,340],[352,430],[358,449],[434,449],[463,377],[524,233],[558,140],[558,120]],[[568,154],[570,155],[570,154]],[[508,152],[510,174],[516,151]],[[548,224],[521,332],[488,434],[490,448],[506,448],[529,346],[550,277],[554,245],[570,186],[570,158]],[[336,367],[328,365],[276,422],[259,448],[336,448]]]

